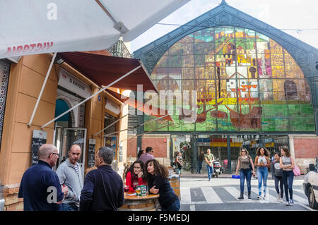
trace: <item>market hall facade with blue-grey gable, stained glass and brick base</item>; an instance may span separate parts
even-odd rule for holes
[[[146,133],[134,140],[137,148],[144,149],[145,142],[156,146],[153,135],[165,135],[170,144],[165,150],[160,145],[160,151],[169,152],[166,159],[172,162],[182,149],[193,173],[199,151],[207,148],[232,168],[240,147],[253,157],[260,146],[271,154],[288,146],[302,171],[318,155],[314,47],[222,1],[134,51],[134,57],[143,61],[159,91],[171,91],[165,107],[175,121],[155,121],[137,130]],[[143,115],[136,121],[149,119]],[[129,147],[127,154],[136,156],[136,148]]]

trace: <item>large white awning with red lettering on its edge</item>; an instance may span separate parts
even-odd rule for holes
[[[0,3],[0,59],[95,51],[130,42],[190,0],[15,0]]]

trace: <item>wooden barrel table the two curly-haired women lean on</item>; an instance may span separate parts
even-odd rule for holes
[[[157,211],[158,209],[158,195],[145,195],[145,196],[137,196],[130,195],[133,193],[124,193],[125,200],[124,205],[120,207],[119,211]]]

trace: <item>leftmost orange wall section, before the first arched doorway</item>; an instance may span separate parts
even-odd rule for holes
[[[27,126],[51,58],[48,54],[23,56],[18,64],[11,64],[0,152],[0,180],[4,186],[5,210],[22,209],[22,200],[18,200],[17,196],[18,187],[24,171],[31,164],[33,130],[40,130],[40,126],[54,118],[57,73],[53,68],[32,126]],[[47,132],[47,143],[52,143],[54,123],[43,130]]]

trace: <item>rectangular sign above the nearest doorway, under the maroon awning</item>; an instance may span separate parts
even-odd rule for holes
[[[71,73],[65,71],[63,68],[59,69],[59,86],[74,92],[75,94],[88,98],[90,97],[90,86],[78,78],[71,75]]]

